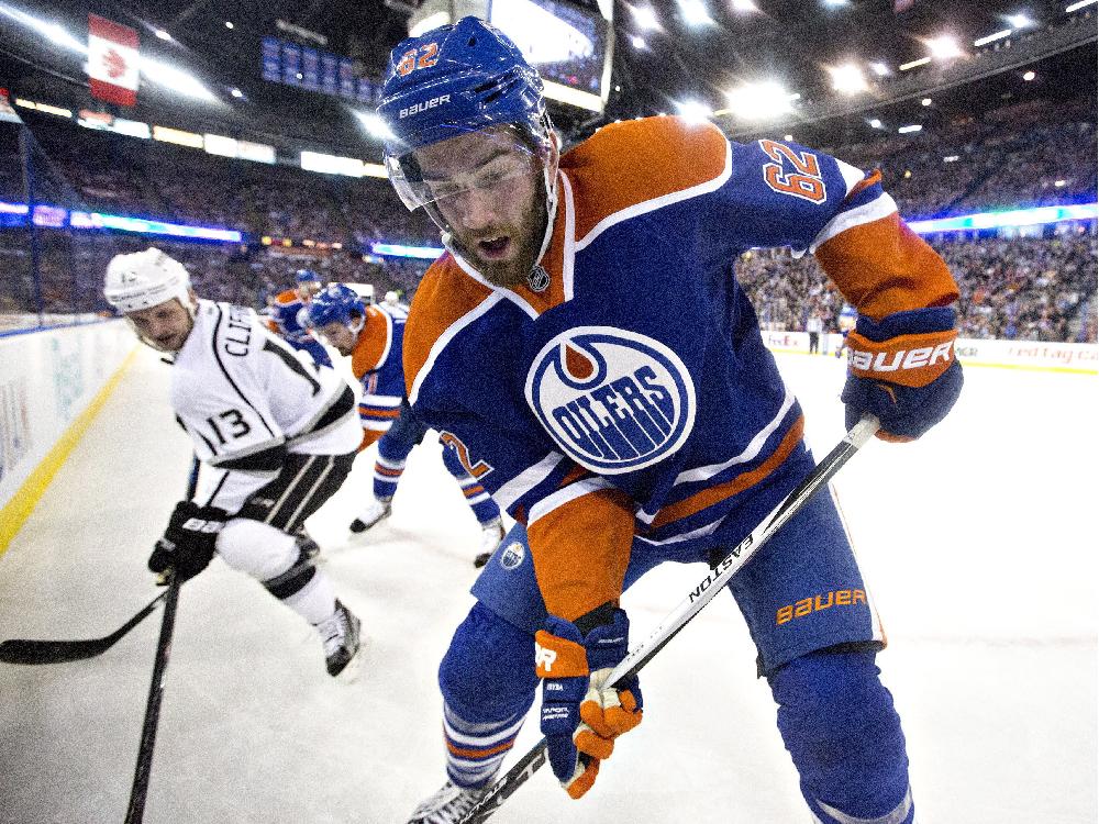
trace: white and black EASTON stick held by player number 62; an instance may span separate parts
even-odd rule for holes
[[[878,431],[878,420],[866,415],[856,423],[843,439],[830,452],[817,468],[786,499],[765,517],[755,530],[714,566],[710,574],[687,593],[679,605],[664,621],[635,646],[613,670],[608,680],[618,683],[637,673],[664,646],[674,638],[710,601],[730,579],[747,564],[761,546],[767,543],[781,526],[826,485],[851,457],[858,452]],[[477,802],[457,824],[481,824],[507,801],[511,794],[546,762],[546,739],[535,744],[515,765],[499,779],[488,793]]]

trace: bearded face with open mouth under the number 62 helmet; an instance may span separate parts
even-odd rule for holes
[[[545,230],[542,158],[490,130],[420,148],[417,162],[451,244],[490,283],[523,283]]]

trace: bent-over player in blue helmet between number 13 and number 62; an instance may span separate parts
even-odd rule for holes
[[[375,442],[378,444],[374,497],[352,522],[352,532],[365,532],[389,515],[404,463],[428,432],[404,398],[401,355],[407,318],[407,311],[396,301],[367,307],[363,298],[343,283],[328,287],[309,304],[309,325],[341,355],[351,357],[352,372],[363,387],[358,402],[363,424],[359,452]],[[482,567],[503,537],[500,508],[477,479],[477,470],[468,471],[457,449],[445,437],[442,439],[443,463],[481,527],[480,552],[474,558],[474,566]]]

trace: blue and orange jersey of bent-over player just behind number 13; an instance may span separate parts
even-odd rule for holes
[[[400,307],[367,307],[352,353],[351,369],[363,385],[358,416],[366,448],[385,434],[401,413],[404,399],[403,341],[408,318]]]

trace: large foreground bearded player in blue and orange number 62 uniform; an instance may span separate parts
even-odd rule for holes
[[[636,676],[606,682],[629,645],[622,591],[721,557],[812,469],[731,261],[815,254],[858,311],[847,424],[873,413],[886,439],[919,437],[961,391],[958,292],[877,172],[804,146],[651,118],[562,153],[537,74],[474,18],[397,46],[379,113],[390,180],[447,249],[412,302],[409,400],[518,522],[440,667],[448,780],[411,819],[439,824],[484,794],[540,680],[550,764],[585,794],[642,719]],[[815,820],[911,824],[885,636],[832,499],[730,590]]]

